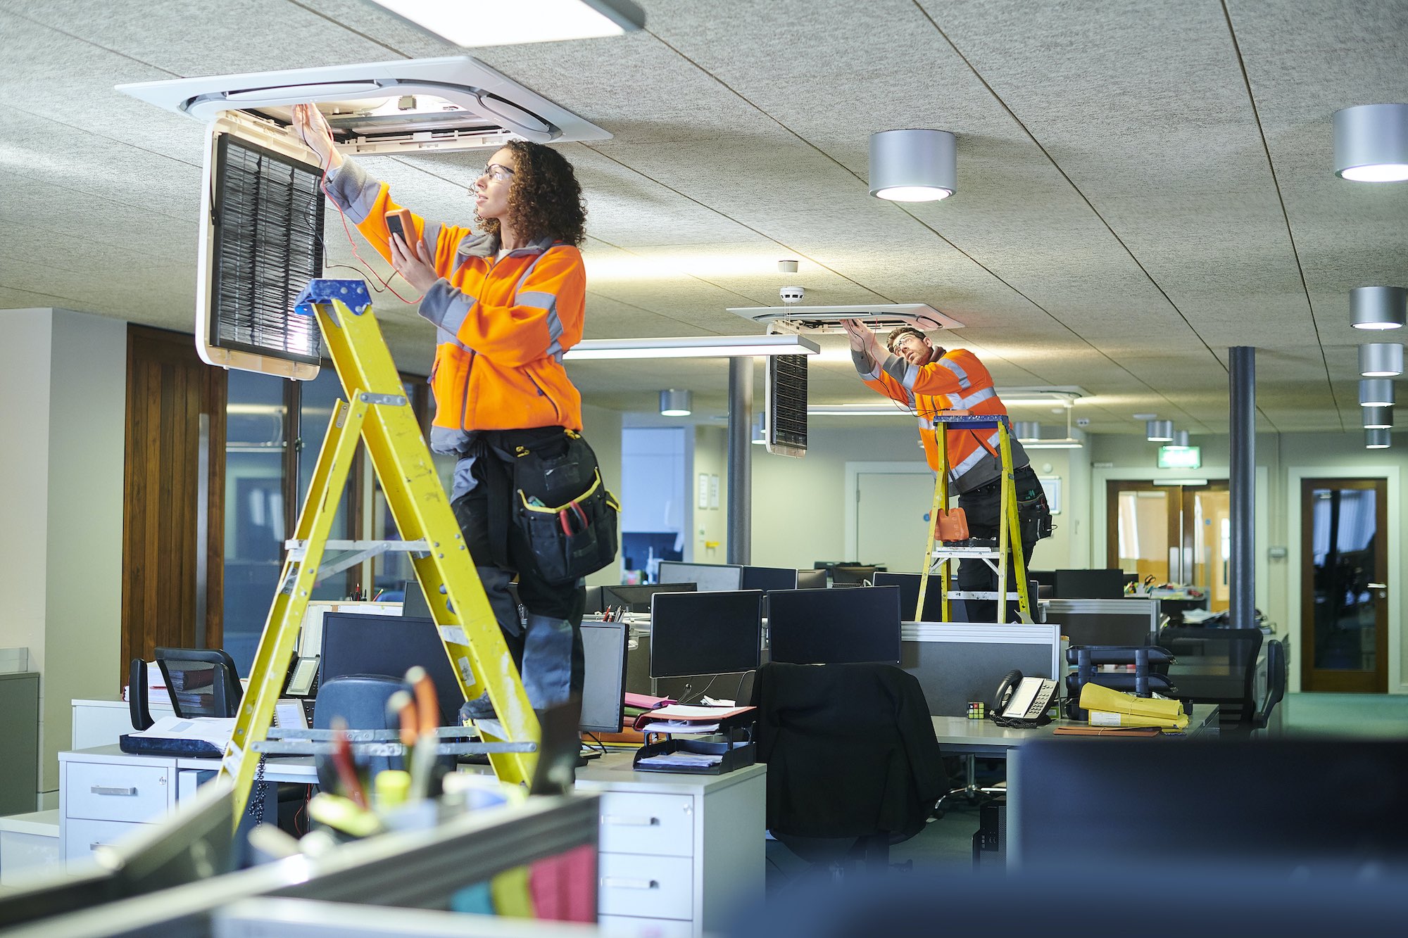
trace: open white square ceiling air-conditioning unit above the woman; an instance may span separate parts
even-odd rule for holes
[[[315,103],[344,154],[404,154],[610,139],[611,134],[467,55],[118,85],[210,123],[228,111],[291,123]]]

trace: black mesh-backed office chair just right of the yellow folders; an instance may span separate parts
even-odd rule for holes
[[[1159,645],[1177,659],[1169,676],[1178,697],[1193,703],[1218,704],[1222,727],[1250,727],[1256,718],[1256,656],[1262,651],[1260,628],[1205,628],[1166,625]]]

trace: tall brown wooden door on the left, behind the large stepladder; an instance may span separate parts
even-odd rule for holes
[[[225,372],[182,332],[131,327],[120,673],[161,645],[220,648]]]

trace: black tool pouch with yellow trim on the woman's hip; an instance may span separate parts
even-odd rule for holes
[[[534,449],[518,446],[514,469],[514,524],[538,575],[570,583],[615,559],[620,503],[601,482],[601,469],[582,434],[566,431]]]

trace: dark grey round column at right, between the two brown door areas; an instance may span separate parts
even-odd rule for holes
[[[1256,349],[1232,348],[1228,375],[1232,496],[1231,625],[1256,627]]]

